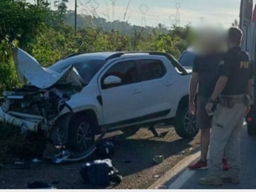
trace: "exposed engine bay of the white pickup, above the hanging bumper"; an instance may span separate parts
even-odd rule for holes
[[[56,119],[64,104],[70,99],[75,91],[59,90],[50,88],[41,90],[34,86],[24,85],[13,91],[3,92],[4,102],[2,109],[4,112],[18,112],[41,116],[48,122]]]

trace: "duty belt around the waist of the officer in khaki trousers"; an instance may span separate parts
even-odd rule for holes
[[[250,96],[247,94],[240,95],[220,95],[219,103],[223,107],[233,108],[235,104],[250,105]]]

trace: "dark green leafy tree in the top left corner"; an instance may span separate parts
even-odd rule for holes
[[[33,5],[23,0],[0,1],[0,40],[17,39],[23,46],[36,35],[40,25],[46,22],[49,10],[45,0],[37,2]]]

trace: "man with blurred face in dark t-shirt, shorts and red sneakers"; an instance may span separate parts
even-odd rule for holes
[[[218,66],[222,60],[219,45],[205,46],[208,48],[203,55],[198,55],[193,64],[192,77],[189,88],[189,110],[191,114],[196,114],[196,124],[201,130],[201,158],[198,162],[188,166],[190,169],[206,169],[207,153],[210,142],[211,117],[205,110],[205,106],[214,90],[218,80]],[[206,51],[206,50],[205,50]],[[195,94],[198,87],[197,102],[195,107]],[[197,108],[197,109],[196,109]],[[228,169],[225,159],[222,160],[223,168]]]

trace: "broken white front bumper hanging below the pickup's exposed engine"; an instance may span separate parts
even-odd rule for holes
[[[0,107],[0,122],[8,123],[33,132],[38,131],[43,117],[18,112],[4,112]]]

